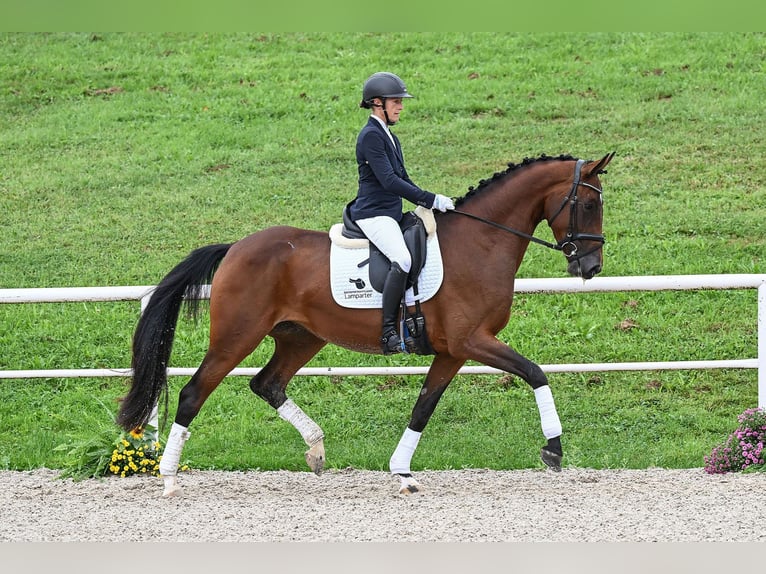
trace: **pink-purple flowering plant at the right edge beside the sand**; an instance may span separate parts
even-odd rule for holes
[[[705,456],[705,472],[766,471],[766,409],[747,409],[737,417],[739,426]]]

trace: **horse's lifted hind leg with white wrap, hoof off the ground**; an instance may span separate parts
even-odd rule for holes
[[[250,380],[250,389],[301,433],[309,447],[306,451],[306,464],[315,474],[321,474],[325,462],[324,433],[298,405],[287,398],[285,389],[298,369],[316,355],[326,342],[295,323],[281,323],[270,334],[274,338],[274,355]]]

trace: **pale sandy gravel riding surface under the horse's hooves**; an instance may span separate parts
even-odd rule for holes
[[[0,471],[4,542],[766,541],[766,473],[688,470],[190,471],[74,482]],[[140,528],[137,528],[140,525]]]

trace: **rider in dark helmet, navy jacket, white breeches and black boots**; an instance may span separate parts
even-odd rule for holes
[[[389,126],[399,120],[403,99],[411,97],[401,78],[390,72],[377,72],[364,83],[359,107],[372,112],[356,140],[359,190],[349,204],[351,219],[391,260],[383,284],[381,344],[386,355],[401,351],[397,331],[399,304],[412,264],[399,228],[403,215],[402,198],[442,212],[455,209],[450,198],[419,188],[407,175],[399,139]]]

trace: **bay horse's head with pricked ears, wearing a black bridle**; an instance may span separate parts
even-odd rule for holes
[[[556,238],[556,248],[567,258],[570,275],[591,279],[603,264],[602,235],[603,199],[600,173],[612,161],[614,153],[599,161],[577,160],[568,185],[546,201],[546,219]]]

